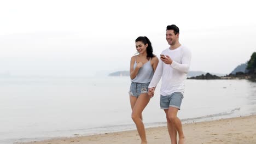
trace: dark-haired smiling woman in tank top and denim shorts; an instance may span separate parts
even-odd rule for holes
[[[132,120],[135,122],[141,143],[147,143],[146,132],[142,122],[142,111],[150,100],[148,85],[153,77],[158,58],[153,54],[153,47],[147,37],[138,37],[136,40],[138,55],[131,57],[130,65],[130,103]]]

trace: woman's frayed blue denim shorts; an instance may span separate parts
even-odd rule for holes
[[[141,95],[142,93],[148,93],[148,85],[150,82],[148,83],[137,83],[137,82],[132,82],[131,83],[131,87],[130,87],[130,91],[129,94],[131,96],[135,96],[138,97],[139,95]]]

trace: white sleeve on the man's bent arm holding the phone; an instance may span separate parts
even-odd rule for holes
[[[191,62],[191,52],[188,49],[184,49],[181,63],[172,61],[171,67],[173,69],[179,70],[187,74],[189,72],[190,62]]]

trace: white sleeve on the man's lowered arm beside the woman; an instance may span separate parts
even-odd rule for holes
[[[152,77],[151,82],[149,83],[148,88],[152,88],[152,87],[156,87],[156,85],[158,85],[158,82],[160,81],[161,77],[162,77],[162,69],[163,69],[163,63],[160,60],[158,62],[158,67],[156,67],[154,76]]]

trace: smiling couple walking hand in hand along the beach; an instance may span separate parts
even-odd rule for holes
[[[131,57],[130,64],[130,103],[132,120],[135,122],[141,144],[146,144],[146,131],[142,121],[142,111],[154,96],[156,85],[162,79],[160,107],[166,113],[168,134],[171,143],[184,144],[185,137],[181,120],[177,117],[184,95],[184,80],[190,67],[191,52],[179,43],[179,28],[166,27],[166,40],[170,45],[162,51],[160,60],[153,54],[153,47],[147,37],[138,37],[138,55]]]

